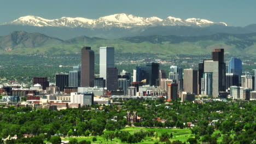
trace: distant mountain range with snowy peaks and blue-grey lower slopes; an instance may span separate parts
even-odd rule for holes
[[[256,32],[256,25],[246,27],[228,26],[224,22],[212,22],[204,19],[179,19],[168,16],[138,17],[129,14],[114,14],[98,19],[83,17],[61,17],[48,20],[37,16],[23,16],[0,24],[0,35],[13,31],[42,33],[59,39],[72,39],[82,35],[105,39],[149,35],[200,36],[218,33],[247,34]]]

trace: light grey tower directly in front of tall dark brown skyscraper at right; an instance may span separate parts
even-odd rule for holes
[[[203,61],[203,71],[204,73],[212,73],[212,96],[219,97],[219,62]]]

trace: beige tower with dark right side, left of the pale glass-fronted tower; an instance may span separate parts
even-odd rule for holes
[[[184,69],[184,92],[197,94],[197,70]]]

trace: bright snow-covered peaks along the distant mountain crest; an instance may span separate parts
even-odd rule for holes
[[[114,14],[100,17],[98,19],[86,19],[83,17],[61,17],[60,19],[48,20],[37,16],[23,16],[14,21],[4,23],[3,25],[25,25],[37,27],[84,27],[84,28],[106,28],[106,27],[148,27],[148,26],[199,26],[206,27],[211,25],[228,26],[224,22],[212,22],[203,19],[179,19],[176,17],[138,17],[127,14]]]

